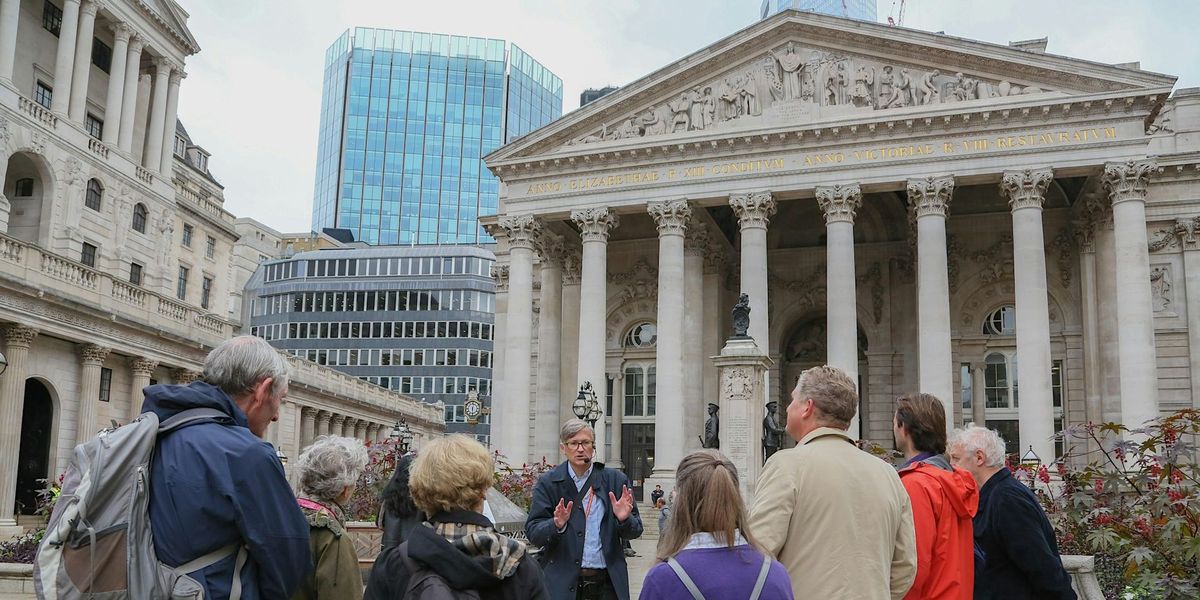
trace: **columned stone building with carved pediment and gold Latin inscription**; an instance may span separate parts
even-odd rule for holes
[[[740,293],[769,400],[835,365],[886,445],[914,390],[1043,460],[1200,406],[1200,90],[1044,50],[786,11],[487,156],[493,445],[553,460],[590,382],[670,482]]]

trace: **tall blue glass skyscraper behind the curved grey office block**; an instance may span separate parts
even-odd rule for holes
[[[503,40],[355,28],[325,52],[312,228],[488,244],[482,157],[563,114],[563,80]]]

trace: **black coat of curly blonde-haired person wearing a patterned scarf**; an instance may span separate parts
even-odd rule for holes
[[[491,527],[479,512],[442,512],[432,522],[470,523]],[[418,526],[400,546],[389,547],[376,558],[367,580],[364,600],[403,600],[408,589],[409,568],[404,556],[440,575],[454,589],[474,589],[484,600],[548,600],[541,569],[528,554],[521,558],[517,571],[500,580],[490,570],[488,560],[470,557],[428,527]]]

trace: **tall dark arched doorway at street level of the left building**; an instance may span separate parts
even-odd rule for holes
[[[25,380],[20,420],[20,454],[17,461],[17,515],[34,515],[41,480],[52,478],[50,439],[54,437],[54,397],[37,378]]]

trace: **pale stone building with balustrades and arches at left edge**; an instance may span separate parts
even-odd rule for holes
[[[172,0],[0,0],[0,539],[77,443],[242,329],[268,240],[238,230],[176,125],[186,18]],[[288,360],[269,433],[288,456],[320,433],[444,428],[442,407]]]

